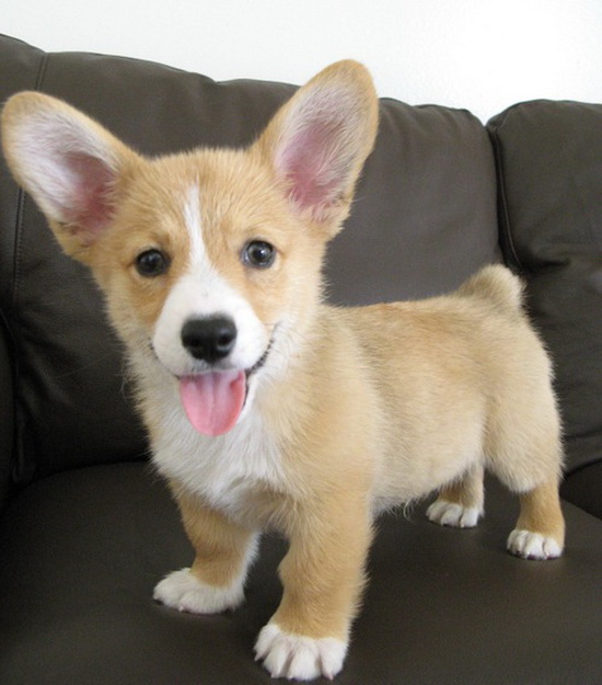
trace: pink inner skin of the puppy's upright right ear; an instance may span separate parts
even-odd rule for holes
[[[350,158],[345,149],[345,123],[333,118],[311,122],[283,145],[277,165],[290,183],[290,197],[321,220],[345,190]]]

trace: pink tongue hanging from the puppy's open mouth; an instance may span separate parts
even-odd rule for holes
[[[188,421],[205,435],[221,435],[234,426],[245,393],[244,372],[212,372],[180,381],[180,398]]]

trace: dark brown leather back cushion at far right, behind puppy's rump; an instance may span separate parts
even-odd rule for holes
[[[528,102],[488,128],[501,240],[555,363],[571,471],[602,459],[602,104]]]

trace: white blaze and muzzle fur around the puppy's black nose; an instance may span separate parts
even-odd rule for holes
[[[207,254],[198,187],[190,189],[182,212],[189,237],[188,270],[165,299],[154,328],[154,352],[175,376],[202,370],[202,364],[182,345],[182,327],[188,319],[221,315],[234,321],[238,332],[234,350],[221,367],[251,368],[265,352],[269,333],[251,305],[219,274]]]

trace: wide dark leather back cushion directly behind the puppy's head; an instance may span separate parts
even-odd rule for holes
[[[24,89],[67,100],[149,155],[248,144],[294,91],[126,58],[46,54],[0,37],[0,101]],[[146,455],[100,294],[1,173],[0,308],[16,367],[16,479]],[[474,116],[382,101],[377,149],[329,250],[328,297],[367,304],[455,287],[498,259],[495,201],[493,153]]]

